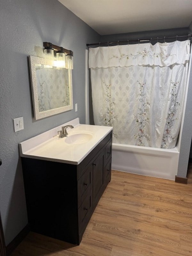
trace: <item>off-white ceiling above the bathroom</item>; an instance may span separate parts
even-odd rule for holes
[[[59,0],[100,35],[186,28],[192,0]]]

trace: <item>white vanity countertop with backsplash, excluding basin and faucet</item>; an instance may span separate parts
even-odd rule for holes
[[[66,143],[67,137],[59,138],[58,131],[61,130],[62,126],[68,124],[74,126],[73,129],[67,129],[68,136],[85,132],[92,134],[92,139],[82,144]],[[112,129],[113,127],[108,126],[79,124],[79,118],[76,118],[31,139],[20,142],[20,156],[77,165]]]

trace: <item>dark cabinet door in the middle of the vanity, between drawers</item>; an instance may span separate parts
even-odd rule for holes
[[[104,150],[93,162],[93,205],[96,206],[104,189]]]

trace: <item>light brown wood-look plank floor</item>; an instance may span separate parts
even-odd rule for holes
[[[79,246],[30,232],[12,256],[191,256],[191,178],[185,185],[112,171]]]

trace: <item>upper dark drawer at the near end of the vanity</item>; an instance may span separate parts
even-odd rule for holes
[[[81,179],[78,180],[78,207],[85,197],[92,192],[92,164],[88,166]]]

